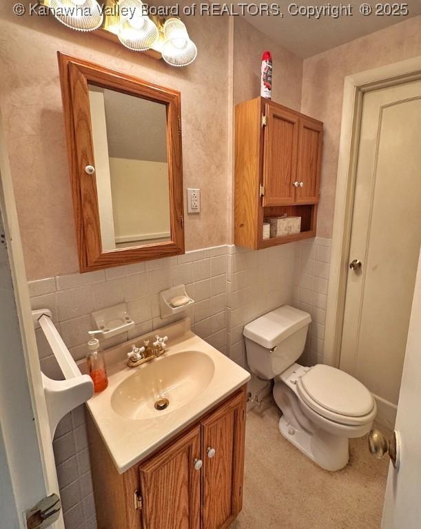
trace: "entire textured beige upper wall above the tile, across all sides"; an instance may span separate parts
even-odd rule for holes
[[[311,57],[304,70],[301,59],[244,19],[190,17],[187,25],[198,59],[177,70],[92,34],[72,32],[52,17],[3,13],[0,109],[29,279],[79,269],[57,50],[181,90],[184,187],[202,189],[201,214],[186,215],[187,249],[232,242],[232,103],[259,95],[263,50],[274,56],[274,101],[325,122],[318,235],[327,238],[345,76],[421,54],[421,17]]]

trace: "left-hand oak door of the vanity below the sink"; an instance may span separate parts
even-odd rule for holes
[[[139,467],[143,529],[200,529],[201,428],[196,426]]]

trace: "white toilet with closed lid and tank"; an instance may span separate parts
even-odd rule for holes
[[[280,433],[322,468],[340,470],[349,460],[348,439],[370,431],[376,401],[344,371],[295,363],[309,323],[309,314],[289,305],[250,322],[244,328],[247,362],[258,377],[274,378]]]

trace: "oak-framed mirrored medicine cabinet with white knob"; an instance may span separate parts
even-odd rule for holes
[[[181,94],[59,53],[81,271],[184,253]]]

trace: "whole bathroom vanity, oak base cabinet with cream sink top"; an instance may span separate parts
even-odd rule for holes
[[[88,402],[99,529],[222,529],[242,508],[249,373],[183,320],[161,357],[134,369],[105,351],[109,386]],[[166,397],[167,408],[156,409]]]

